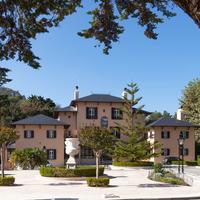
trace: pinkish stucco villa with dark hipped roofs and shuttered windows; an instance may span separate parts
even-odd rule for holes
[[[38,147],[47,151],[49,162],[55,166],[64,165],[66,155],[64,154],[64,140],[67,137],[79,137],[79,131],[86,126],[100,126],[113,129],[113,134],[123,139],[124,136],[117,129],[117,123],[125,123],[125,116],[121,111],[124,100],[121,97],[115,97],[108,94],[91,94],[89,96],[79,97],[79,89],[74,91],[74,99],[70,105],[64,108],[58,108],[54,112],[54,118],[45,115],[36,115],[13,124],[16,127],[20,139],[16,141],[16,149],[28,147]],[[143,120],[150,113],[142,111],[139,118]],[[149,125],[148,140],[152,143],[158,141],[162,143],[163,150],[168,151],[168,155],[177,154],[177,138],[181,131],[187,131],[187,152],[186,159],[194,160],[194,126],[187,123],[183,126],[180,120],[169,121],[162,119],[162,123]],[[168,122],[168,123],[167,123]],[[169,123],[170,122],[170,123]],[[162,138],[163,132],[170,132],[167,139]],[[166,154],[167,155],[167,154]],[[165,156],[165,155],[164,155]],[[155,162],[162,161],[163,156],[152,158]],[[90,149],[81,148],[80,155],[77,156],[79,163],[92,163],[93,153]]]

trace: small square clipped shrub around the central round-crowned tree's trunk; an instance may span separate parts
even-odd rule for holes
[[[108,187],[110,179],[109,178],[86,178],[87,184],[90,187]]]

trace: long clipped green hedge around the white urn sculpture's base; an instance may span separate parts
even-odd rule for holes
[[[104,167],[99,167],[99,175],[104,173]],[[96,176],[96,167],[78,167],[76,169],[65,169],[59,167],[41,167],[40,175],[46,177],[89,177]]]

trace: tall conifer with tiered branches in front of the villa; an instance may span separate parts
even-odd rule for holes
[[[128,84],[126,95],[124,95],[124,105],[122,108],[125,123],[118,123],[118,127],[126,139],[119,140],[116,143],[114,158],[117,161],[139,161],[146,160],[157,154],[153,153],[153,148],[158,148],[156,142],[153,145],[147,141],[146,133],[148,129],[145,127],[144,120],[140,120],[142,115],[141,109],[144,106],[136,105],[142,97],[136,98],[139,88],[136,83]]]

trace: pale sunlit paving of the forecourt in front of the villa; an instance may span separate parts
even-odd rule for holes
[[[83,179],[41,177],[37,170],[9,171],[14,187],[0,187],[0,200],[102,200],[200,196],[200,178],[193,186],[173,186],[147,179],[148,169],[113,168],[109,188],[87,187]],[[105,198],[105,196],[110,198]]]

